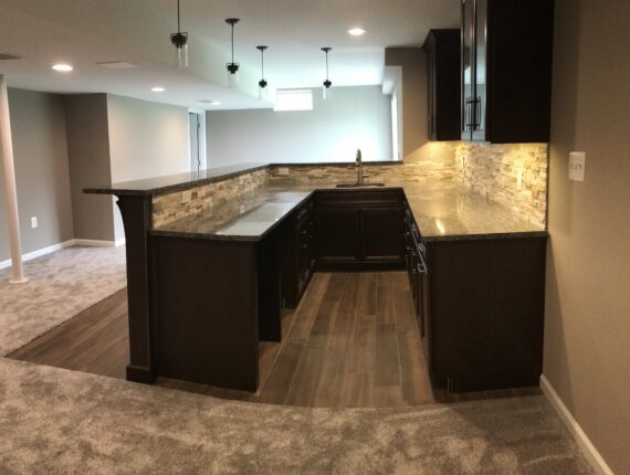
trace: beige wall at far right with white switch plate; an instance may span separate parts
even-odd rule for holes
[[[556,0],[544,372],[630,474],[630,2]],[[567,178],[587,152],[586,181]]]

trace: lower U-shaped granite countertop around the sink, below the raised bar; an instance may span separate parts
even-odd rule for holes
[[[419,183],[388,183],[369,189],[402,189],[426,241],[547,235],[543,226],[521,220],[508,208],[458,187],[438,189]],[[183,218],[151,233],[259,241],[315,190],[347,191],[336,188],[336,183],[266,186],[237,197],[221,209]]]

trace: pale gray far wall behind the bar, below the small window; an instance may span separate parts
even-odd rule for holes
[[[207,113],[208,167],[245,161],[391,160],[390,97],[380,86],[335,87],[314,109]]]

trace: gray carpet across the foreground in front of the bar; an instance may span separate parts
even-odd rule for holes
[[[2,474],[592,473],[543,397],[304,409],[0,359],[0,428]]]

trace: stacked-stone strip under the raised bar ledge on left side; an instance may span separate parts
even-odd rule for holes
[[[186,191],[155,196],[153,226],[160,228],[211,207],[224,204],[238,194],[266,184],[267,177],[269,170],[262,169]]]

